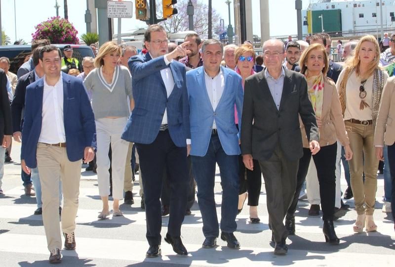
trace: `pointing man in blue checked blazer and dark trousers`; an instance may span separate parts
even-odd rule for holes
[[[189,102],[185,66],[174,59],[185,57],[189,51],[185,49],[186,42],[168,53],[168,42],[164,28],[151,25],[144,33],[148,53],[129,60],[135,107],[122,139],[136,144],[144,173],[146,236],[150,245],[147,257],[160,255],[162,218],[159,199],[165,168],[169,173],[171,199],[164,240],[177,254],[188,254],[180,236],[189,184]]]

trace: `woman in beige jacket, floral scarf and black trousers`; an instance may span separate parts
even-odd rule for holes
[[[317,126],[319,129],[320,151],[313,155],[319,181],[319,194],[321,197],[323,233],[325,241],[330,244],[339,244],[333,226],[333,213],[335,209],[335,170],[336,152],[339,139],[346,150],[346,159],[350,160],[353,152],[347,137],[346,128],[342,117],[339,96],[335,83],[328,79],[328,57],[321,44],[312,44],[305,49],[300,57],[301,73],[305,75],[309,98],[316,112]],[[301,124],[303,138],[303,157],[299,161],[297,174],[297,187],[294,200],[286,215],[285,226],[290,234],[295,233],[294,213],[302,184],[306,178],[312,154],[309,149],[306,131]]]

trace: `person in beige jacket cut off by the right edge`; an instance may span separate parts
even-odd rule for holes
[[[383,161],[383,146],[388,146],[388,162],[391,172],[391,209],[395,222],[395,77],[387,80],[383,89],[380,102],[379,114],[377,116],[374,145],[376,146],[376,157]],[[394,225],[395,229],[395,225]]]

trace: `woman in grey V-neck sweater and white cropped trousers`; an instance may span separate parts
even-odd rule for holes
[[[121,48],[115,42],[104,43],[94,60],[96,67],[86,76],[84,85],[92,93],[97,138],[97,181],[103,209],[99,219],[110,215],[110,159],[112,151],[113,216],[122,216],[123,181],[128,142],[120,138],[130,111],[133,110],[132,80],[127,67],[119,66]],[[129,100],[128,100],[129,99]]]

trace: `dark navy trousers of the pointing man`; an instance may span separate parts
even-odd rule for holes
[[[188,170],[187,148],[177,147],[168,130],[159,131],[151,144],[136,143],[140,156],[140,168],[144,173],[143,190],[145,214],[147,220],[147,240],[152,245],[160,245],[162,216],[160,194],[162,191],[163,171],[169,173],[170,205],[167,233],[171,236],[181,235],[187,205]]]

